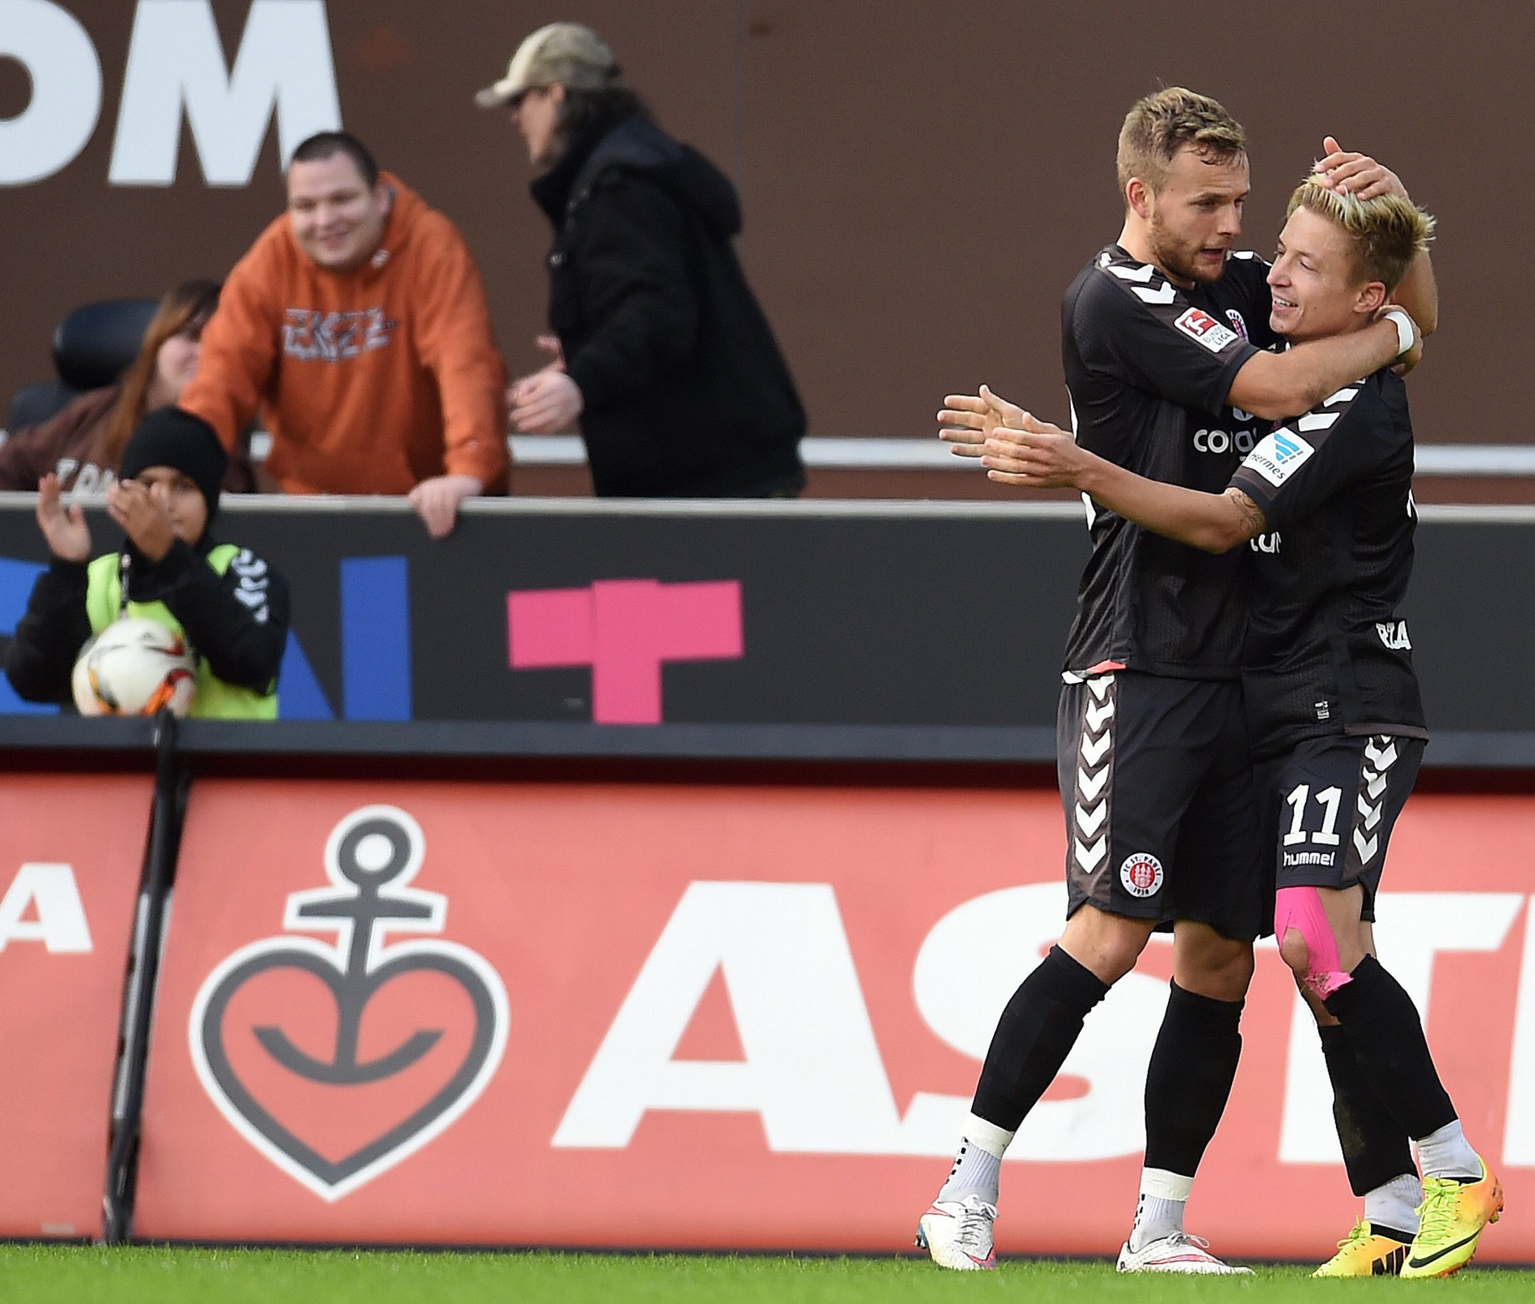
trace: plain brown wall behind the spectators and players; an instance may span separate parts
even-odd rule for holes
[[[135,5],[58,6],[100,54],[101,118],[61,172],[0,189],[0,396],[51,373],[71,307],[227,272],[282,203],[275,129],[244,187],[204,183],[186,127],[172,186],[107,184]],[[226,60],[249,9],[213,0]],[[520,140],[471,97],[527,31],[579,17],[660,120],[741,184],[741,253],[815,434],[926,436],[946,390],[981,380],[1064,416],[1058,302],[1119,230],[1119,120],[1183,83],[1248,127],[1251,247],[1271,249],[1323,133],[1401,173],[1441,233],[1444,324],[1412,382],[1418,437],[1530,439],[1507,400],[1532,327],[1532,5],[330,0],[327,14],[345,126],[459,222],[514,373],[537,362],[548,226]],[[0,120],[29,94],[0,58]]]

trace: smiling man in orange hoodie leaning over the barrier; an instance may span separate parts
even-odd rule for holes
[[[226,448],[261,408],[290,494],[408,494],[434,538],[507,489],[505,368],[454,226],[345,132],[295,152],[287,213],[224,282],[180,407]]]

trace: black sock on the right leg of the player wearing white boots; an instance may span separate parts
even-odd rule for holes
[[[1193,1177],[1216,1135],[1242,1057],[1242,1002],[1171,983],[1147,1066],[1147,1167]]]

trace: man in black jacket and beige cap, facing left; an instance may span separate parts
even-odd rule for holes
[[[554,224],[563,357],[511,387],[516,428],[580,419],[605,497],[798,494],[804,410],[731,242],[735,187],[655,126],[577,23],[530,35],[477,103],[511,107]]]

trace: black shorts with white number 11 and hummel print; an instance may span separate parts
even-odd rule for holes
[[[1386,844],[1423,764],[1421,738],[1308,738],[1259,767],[1265,845],[1279,887],[1365,888],[1365,919]]]

